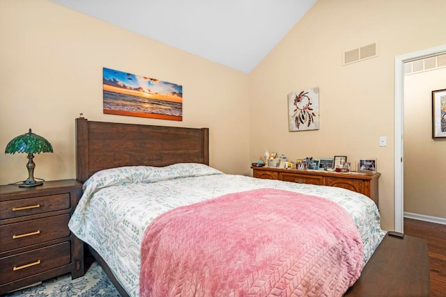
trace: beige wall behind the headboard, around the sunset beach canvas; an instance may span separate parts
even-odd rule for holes
[[[210,164],[249,174],[248,76],[48,0],[0,1],[0,145],[32,128],[54,154],[35,177],[75,177],[75,118],[210,128]],[[102,67],[183,85],[183,122],[102,113]],[[26,179],[25,154],[0,154],[0,184]]]

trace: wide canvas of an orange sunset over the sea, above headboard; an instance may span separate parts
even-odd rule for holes
[[[112,115],[183,120],[183,86],[103,68],[103,109]]]

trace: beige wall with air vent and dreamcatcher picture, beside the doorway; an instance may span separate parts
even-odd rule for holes
[[[445,11],[443,0],[318,0],[249,76],[251,159],[266,149],[290,159],[377,159],[382,226],[392,230],[394,57],[446,44]],[[342,51],[372,42],[377,58],[341,65]],[[286,95],[312,87],[320,91],[320,129],[289,132]]]

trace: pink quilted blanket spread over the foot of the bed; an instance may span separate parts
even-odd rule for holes
[[[341,296],[362,241],[338,204],[262,188],[173,209],[141,245],[140,296]]]

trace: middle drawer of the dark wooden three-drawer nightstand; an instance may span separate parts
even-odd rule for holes
[[[0,226],[0,252],[70,236],[70,214]]]

